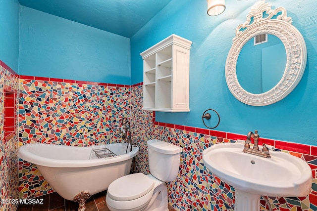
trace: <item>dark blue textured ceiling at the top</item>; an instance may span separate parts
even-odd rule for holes
[[[130,38],[171,0],[19,0],[20,4]]]

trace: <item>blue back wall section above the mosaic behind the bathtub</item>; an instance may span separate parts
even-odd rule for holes
[[[130,39],[20,6],[19,74],[130,84]]]

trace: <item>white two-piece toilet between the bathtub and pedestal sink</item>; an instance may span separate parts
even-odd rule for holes
[[[129,174],[108,187],[110,211],[168,211],[165,182],[177,178],[182,148],[153,139],[148,141],[151,174]]]

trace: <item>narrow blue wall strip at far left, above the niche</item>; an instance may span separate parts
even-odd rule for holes
[[[19,2],[0,0],[0,60],[16,73],[19,64]]]

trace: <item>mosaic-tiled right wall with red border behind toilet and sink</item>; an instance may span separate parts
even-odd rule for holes
[[[146,141],[158,138],[182,147],[178,178],[168,182],[169,203],[180,211],[233,211],[234,188],[212,175],[204,166],[202,152],[213,144],[246,138],[244,135],[155,122],[155,113],[142,109],[142,86],[131,90],[133,139],[140,146],[139,170],[149,173]],[[317,147],[262,138],[265,142],[305,160],[312,169],[313,187],[308,197],[266,197],[272,211],[317,210]],[[261,211],[268,211],[261,200]]]

